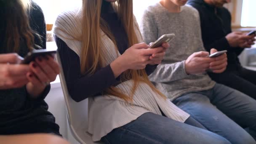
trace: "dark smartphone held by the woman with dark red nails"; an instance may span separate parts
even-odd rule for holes
[[[21,61],[21,64],[29,64],[31,61],[35,61],[35,58],[39,56],[51,55],[54,56],[56,51],[48,51],[46,49],[33,50],[27,53],[27,56],[24,57],[24,60]]]

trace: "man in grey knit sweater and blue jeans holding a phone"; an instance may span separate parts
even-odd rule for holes
[[[162,64],[149,78],[174,104],[209,131],[234,144],[254,144],[255,140],[240,125],[249,127],[251,135],[255,133],[256,101],[215,83],[207,75],[208,69],[214,73],[224,72],[227,55],[207,57],[209,53],[203,47],[199,14],[195,8],[186,6],[186,2],[161,0],[144,12],[140,28],[146,43],[164,34],[176,35]],[[215,51],[212,49],[211,53]]]

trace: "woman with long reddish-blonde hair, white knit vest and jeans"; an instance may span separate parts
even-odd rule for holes
[[[93,141],[229,144],[150,83],[148,75],[169,45],[148,49],[142,43],[132,5],[132,0],[83,0],[81,10],[66,11],[56,21],[67,87],[75,101],[88,98]]]

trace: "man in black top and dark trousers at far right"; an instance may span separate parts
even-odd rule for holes
[[[243,68],[237,56],[244,48],[254,44],[255,35],[247,36],[243,32],[232,32],[231,15],[223,7],[230,0],[189,0],[200,14],[200,23],[204,47],[207,51],[216,48],[227,50],[227,70],[221,74],[209,72],[217,83],[235,88],[256,99],[256,72]]]

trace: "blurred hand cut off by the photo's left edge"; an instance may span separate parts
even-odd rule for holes
[[[17,53],[0,54],[0,90],[21,88],[28,83],[29,66],[17,64],[21,60]]]

